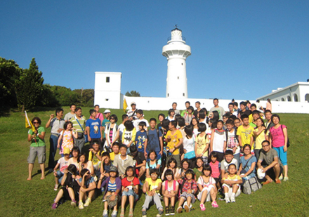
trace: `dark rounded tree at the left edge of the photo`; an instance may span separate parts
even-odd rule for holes
[[[0,110],[17,105],[15,82],[21,69],[14,60],[0,57]]]

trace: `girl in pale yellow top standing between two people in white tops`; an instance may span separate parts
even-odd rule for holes
[[[204,164],[208,163],[209,138],[206,135],[206,124],[199,123],[199,134],[195,138],[195,156],[202,157]]]

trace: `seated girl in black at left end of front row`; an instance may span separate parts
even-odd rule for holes
[[[63,180],[61,181],[61,188],[58,192],[58,195],[55,197],[55,201],[52,209],[56,209],[58,207],[58,202],[60,199],[64,198],[65,200],[71,199],[71,205],[76,206],[76,198],[79,195],[79,183],[75,180],[77,174],[77,167],[74,164],[70,164],[67,169],[64,170]]]

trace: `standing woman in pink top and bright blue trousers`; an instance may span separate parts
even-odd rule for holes
[[[279,159],[283,164],[284,181],[289,180],[287,176],[287,126],[279,124],[280,117],[278,114],[272,114],[272,123],[275,126],[270,127],[270,145],[278,153]]]

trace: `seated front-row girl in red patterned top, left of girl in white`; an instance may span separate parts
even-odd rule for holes
[[[185,178],[179,180],[180,191],[179,191],[179,203],[177,213],[181,213],[183,208],[186,212],[190,211],[190,205],[194,204],[196,198],[195,193],[197,192],[197,183],[195,182],[195,172],[192,169],[185,171]],[[183,206],[183,203],[186,202]],[[183,207],[182,207],[183,206]]]

